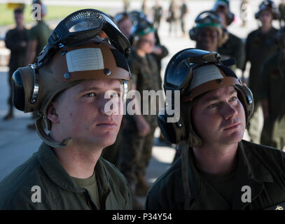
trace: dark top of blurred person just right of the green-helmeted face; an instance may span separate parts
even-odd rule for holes
[[[228,40],[218,48],[218,53],[221,56],[234,57],[237,69],[242,69],[242,66],[244,66],[244,44],[242,43],[242,40],[237,36],[228,33]]]

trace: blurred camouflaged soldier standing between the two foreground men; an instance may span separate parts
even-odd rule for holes
[[[132,73],[132,90],[137,90],[141,96],[141,104],[136,104],[137,113],[125,116],[123,138],[120,148],[119,169],[132,189],[134,209],[142,209],[137,196],[144,197],[150,186],[146,182],[146,168],[151,160],[153,134],[157,127],[156,115],[143,115],[142,99],[144,90],[160,89],[158,65],[151,55],[155,46],[155,29],[148,23],[139,23],[134,28],[133,48],[129,57]],[[156,106],[156,101],[147,99],[148,109]],[[154,105],[153,105],[153,104]],[[140,107],[140,108],[139,108]],[[128,112],[128,111],[127,111]],[[157,110],[158,113],[158,110]]]

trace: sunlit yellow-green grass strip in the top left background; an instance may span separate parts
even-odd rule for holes
[[[87,8],[86,6],[47,6],[48,7],[48,13],[46,15],[45,20],[60,20],[67,15],[73,13],[76,10],[80,10],[83,8]],[[108,10],[104,8],[97,8],[99,10],[104,11],[105,13],[108,13]],[[26,5],[24,10],[25,15],[25,24],[28,22],[34,22],[32,20],[32,14],[31,14],[32,6]],[[13,9],[7,8],[6,4],[0,3],[0,26],[6,26],[6,25],[14,25],[14,15],[13,15]]]

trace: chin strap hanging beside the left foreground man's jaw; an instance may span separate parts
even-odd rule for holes
[[[41,137],[41,139],[43,139],[43,141],[48,146],[51,146],[53,148],[64,148],[71,145],[72,139],[70,137],[67,139],[63,139],[61,142],[53,140],[50,135],[46,134],[46,132],[43,130],[42,121],[42,117],[36,118],[36,132],[38,132],[39,137]]]

